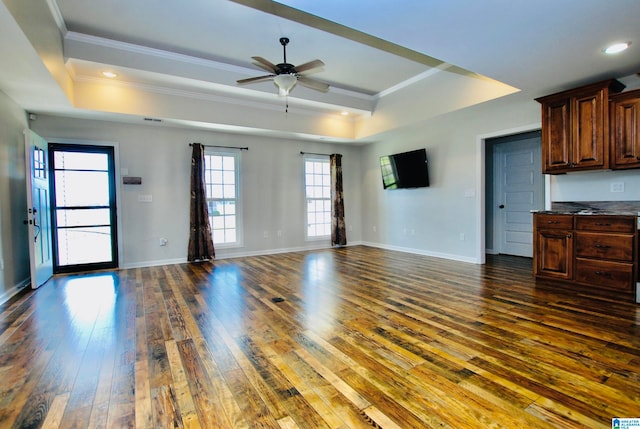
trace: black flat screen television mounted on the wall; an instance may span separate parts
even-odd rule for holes
[[[384,189],[424,188],[429,186],[425,149],[380,157]]]

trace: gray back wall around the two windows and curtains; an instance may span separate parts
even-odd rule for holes
[[[165,126],[117,124],[40,115],[32,128],[48,141],[115,142],[120,168],[142,177],[142,185],[118,180],[122,266],[186,260],[189,226],[190,142],[249,147],[241,153],[244,245],[217,248],[219,258],[329,247],[329,240],[305,241],[303,164],[300,151],[343,155],[347,240],[360,242],[360,149],[256,136],[239,136]],[[151,203],[138,195],[151,195]],[[278,236],[278,231],[281,235]],[[265,234],[267,238],[265,238]],[[159,239],[168,240],[165,247]]]

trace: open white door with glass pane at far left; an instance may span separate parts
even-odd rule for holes
[[[53,276],[51,205],[49,199],[48,143],[31,130],[24,131],[27,171],[27,226],[31,287],[42,286]]]

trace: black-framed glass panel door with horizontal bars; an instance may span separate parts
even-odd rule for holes
[[[51,144],[54,271],[117,267],[113,147]]]

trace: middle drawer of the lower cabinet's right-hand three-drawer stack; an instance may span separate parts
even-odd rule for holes
[[[633,262],[633,234],[576,231],[576,256]]]

